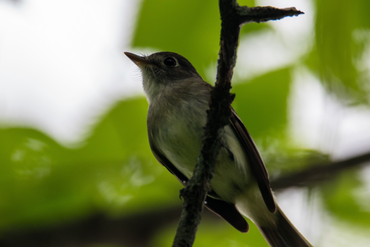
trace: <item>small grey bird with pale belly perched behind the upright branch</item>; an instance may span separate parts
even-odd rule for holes
[[[185,185],[200,152],[212,86],[179,54],[125,54],[142,73],[149,102],[150,148],[159,163]],[[232,108],[220,139],[205,206],[241,232],[248,231],[241,214],[250,218],[272,247],[310,247],[275,203],[262,158]]]

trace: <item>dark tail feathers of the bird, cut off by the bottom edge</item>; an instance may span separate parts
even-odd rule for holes
[[[258,227],[271,247],[312,247],[279,207],[276,215],[276,228]]]

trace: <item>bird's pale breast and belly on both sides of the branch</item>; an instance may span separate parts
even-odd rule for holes
[[[165,106],[149,106],[149,139],[188,178],[199,156],[207,109],[207,101],[172,101]],[[248,161],[231,126],[221,131],[221,142],[211,186],[223,200],[234,202],[251,181]]]

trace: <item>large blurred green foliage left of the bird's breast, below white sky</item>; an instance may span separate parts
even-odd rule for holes
[[[1,129],[0,229],[179,203],[182,185],[151,154],[147,107],[144,98],[118,103],[77,149],[36,130]]]

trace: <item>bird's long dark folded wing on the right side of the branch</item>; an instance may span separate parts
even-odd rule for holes
[[[272,196],[270,182],[265,165],[263,164],[262,158],[257,150],[256,144],[248,133],[248,130],[244,126],[242,120],[240,120],[239,116],[236,114],[235,110],[232,107],[230,122],[245,147],[250,170],[257,180],[263,200],[265,201],[268,210],[270,212],[275,212],[276,206],[274,198]]]

